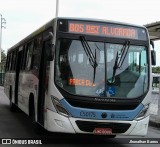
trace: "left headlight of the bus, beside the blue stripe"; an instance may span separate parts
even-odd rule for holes
[[[51,99],[52,99],[53,105],[54,105],[57,113],[64,115],[64,116],[67,116],[67,117],[70,116],[68,111],[61,105],[61,103],[59,102],[59,100],[56,97],[51,96]]]

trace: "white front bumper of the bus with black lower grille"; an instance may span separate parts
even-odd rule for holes
[[[94,120],[66,117],[47,109],[45,129],[51,132],[94,134],[95,128],[110,128],[113,135],[145,136],[148,122],[149,116],[139,121]]]

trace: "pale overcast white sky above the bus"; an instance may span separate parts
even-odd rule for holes
[[[145,25],[160,21],[160,0],[59,0],[58,16],[96,18]],[[2,49],[7,49],[55,17],[56,0],[0,0],[6,19]],[[155,42],[160,66],[160,41]]]

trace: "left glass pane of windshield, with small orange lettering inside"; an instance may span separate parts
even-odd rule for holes
[[[104,87],[104,82],[102,83],[105,77],[104,43],[88,42],[92,53],[96,52],[97,62],[101,62],[101,65],[94,70],[80,40],[61,39],[59,41],[56,55],[56,64],[60,65],[56,70],[57,84],[72,94],[97,96],[95,91],[99,85]]]

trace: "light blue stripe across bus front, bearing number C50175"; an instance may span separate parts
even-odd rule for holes
[[[97,110],[73,107],[65,99],[60,103],[73,117],[98,120],[133,120],[144,107],[140,104],[134,110]]]

